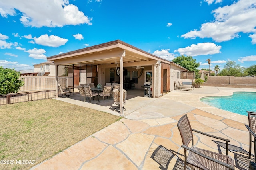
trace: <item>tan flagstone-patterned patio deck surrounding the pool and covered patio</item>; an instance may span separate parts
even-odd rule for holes
[[[166,169],[178,169],[175,164],[182,163],[184,151],[180,147],[182,141],[176,125],[186,113],[193,129],[230,139],[228,154],[235,159],[235,168],[246,170],[249,166],[249,133],[244,126],[248,124],[247,116],[217,109],[199,100],[204,96],[232,95],[234,91],[256,92],[255,89],[246,88],[204,87],[192,91],[174,90],[157,99],[130,97],[125,105],[124,118],[120,121],[90,135],[32,169],[158,170],[160,165],[150,156],[159,145],[170,149],[173,154]],[[110,107],[113,101],[108,104],[109,99],[98,105],[89,104],[88,100],[79,101],[79,96],[78,100],[58,100],[118,115]],[[197,133],[194,133],[194,138],[199,140],[195,142],[195,146],[215,152],[221,150],[225,154],[225,149],[212,141],[214,139]],[[254,157],[251,160],[254,161]]]

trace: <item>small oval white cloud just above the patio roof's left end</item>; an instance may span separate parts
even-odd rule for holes
[[[45,45],[50,47],[59,47],[61,45],[65,45],[66,42],[68,42],[68,39],[60,38],[56,35],[48,36],[47,34],[45,34],[45,35],[41,35],[38,38],[34,37],[34,41],[40,45]]]

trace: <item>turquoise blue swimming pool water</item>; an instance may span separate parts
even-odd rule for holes
[[[200,101],[240,115],[248,115],[246,111],[256,111],[256,92],[234,92],[232,96],[206,97]]]

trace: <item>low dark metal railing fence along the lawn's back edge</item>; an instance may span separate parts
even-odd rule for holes
[[[55,98],[55,90],[0,95],[0,105]]]

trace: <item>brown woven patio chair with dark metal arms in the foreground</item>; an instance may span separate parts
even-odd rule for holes
[[[214,135],[209,135],[207,133],[192,129],[187,115],[184,115],[180,118],[177,126],[180,131],[180,136],[182,138],[183,144],[181,146],[184,148],[184,170],[186,170],[187,164],[192,164],[204,170],[234,170],[234,160],[228,156],[228,142],[230,142],[229,139],[216,137]],[[202,135],[206,135],[208,137],[213,137],[226,141],[226,155],[194,147],[192,131],[195,131]],[[188,147],[191,141],[192,147]],[[190,151],[188,153],[188,156],[187,150]]]

